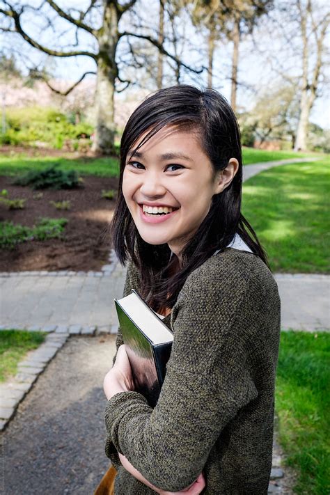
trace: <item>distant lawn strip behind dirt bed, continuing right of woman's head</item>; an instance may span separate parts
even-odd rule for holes
[[[65,155],[63,153],[63,155]],[[253,148],[244,148],[244,164],[256,162],[271,162],[272,160],[306,157],[304,155],[288,151],[264,151]],[[17,175],[31,168],[42,170],[51,164],[58,164],[64,170],[77,170],[80,175],[97,175],[99,177],[118,177],[119,160],[114,157],[104,158],[70,158],[63,157],[29,157],[24,153],[10,152],[10,155],[0,155],[0,175]]]

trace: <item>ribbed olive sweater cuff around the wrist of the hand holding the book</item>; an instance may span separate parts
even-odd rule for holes
[[[141,393],[119,392],[108,400],[105,408],[105,425],[109,439],[118,453],[125,455],[120,448],[120,430],[125,433],[125,423],[138,414],[151,414],[152,408]]]

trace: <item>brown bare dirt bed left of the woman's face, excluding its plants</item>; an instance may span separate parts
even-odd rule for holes
[[[14,249],[1,249],[0,272],[23,270],[99,270],[108,263],[111,238],[109,223],[115,201],[102,198],[102,189],[118,189],[116,178],[84,178],[84,187],[61,191],[33,191],[0,177],[0,191],[7,189],[10,199],[26,199],[24,210],[7,210],[0,204],[0,221],[33,226],[40,217],[66,218],[62,239],[28,241]],[[42,198],[33,198],[42,192]],[[49,201],[70,201],[70,210],[56,210]]]

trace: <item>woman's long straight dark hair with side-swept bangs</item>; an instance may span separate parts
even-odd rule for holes
[[[175,264],[174,256],[170,260],[171,249],[167,244],[153,245],[142,239],[125,202],[122,184],[127,154],[132,152],[139,138],[146,134],[135,150],[160,129],[172,125],[198,132],[214,174],[226,168],[230,158],[236,158],[239,167],[230,185],[213,196],[210,211],[180,253],[182,259],[179,271],[170,276]],[[236,233],[267,265],[265,251],[241,213],[241,201],[242,148],[239,126],[235,113],[222,95],[210,88],[201,91],[189,85],[172,86],[152,93],[132,113],[120,143],[118,201],[111,233],[120,263],[125,265],[128,258],[132,259],[141,274],[141,295],[155,311],[164,307],[172,308],[187,276],[210,258],[215,250],[226,248]]]

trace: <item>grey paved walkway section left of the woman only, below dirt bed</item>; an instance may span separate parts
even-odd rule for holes
[[[0,274],[0,324],[17,329],[97,325],[107,331],[116,321],[113,298],[123,294],[124,279],[118,264],[113,272]]]

